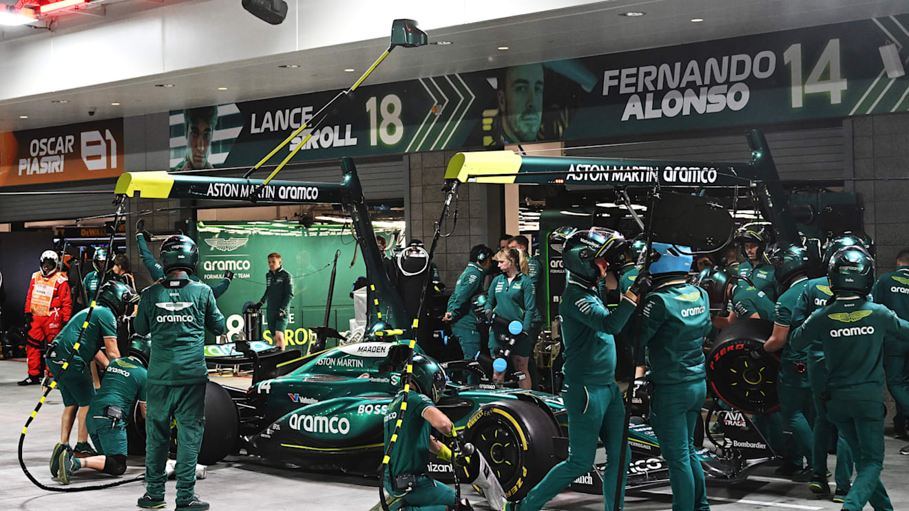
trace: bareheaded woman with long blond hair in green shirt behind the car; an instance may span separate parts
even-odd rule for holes
[[[521,339],[510,348],[508,358],[511,359],[514,370],[527,375],[527,363],[534,347],[534,339],[530,337],[536,312],[533,281],[527,277],[527,262],[522,258],[521,251],[502,249],[495,254],[494,260],[502,273],[496,275],[489,284],[485,316],[490,320],[495,315],[508,321],[521,321]],[[497,323],[489,328],[489,351],[493,357],[509,350],[507,341],[503,340],[508,335],[506,329]],[[504,372],[495,372],[493,375],[494,381],[502,381],[503,378]],[[530,390],[529,375],[520,380],[518,386]]]

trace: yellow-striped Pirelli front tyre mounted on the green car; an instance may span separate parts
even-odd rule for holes
[[[527,495],[555,465],[553,438],[558,436],[559,429],[546,412],[517,399],[484,405],[464,431],[464,439],[483,454],[508,500]],[[468,480],[473,476],[469,474]]]

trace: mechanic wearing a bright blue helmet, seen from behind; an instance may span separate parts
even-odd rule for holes
[[[707,392],[702,346],[711,328],[709,300],[706,291],[685,283],[692,263],[688,248],[654,243],[653,250],[654,284],[644,298],[641,327],[654,382],[650,423],[669,467],[673,510],[702,511],[710,506],[694,425]]]

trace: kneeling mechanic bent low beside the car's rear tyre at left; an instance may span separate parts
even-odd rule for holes
[[[135,403],[145,418],[145,366],[135,357],[113,359],[107,364],[101,388],[88,408],[88,432],[98,456],[79,459],[64,450],[60,453],[60,482],[68,485],[80,468],[93,468],[111,476],[126,471],[126,421]]]

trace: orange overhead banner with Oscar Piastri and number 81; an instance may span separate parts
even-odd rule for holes
[[[0,133],[0,186],[117,177],[123,148],[123,119]]]

